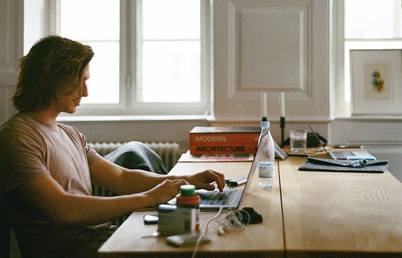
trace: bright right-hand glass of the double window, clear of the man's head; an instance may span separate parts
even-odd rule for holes
[[[140,3],[138,100],[199,102],[199,1],[146,0]]]

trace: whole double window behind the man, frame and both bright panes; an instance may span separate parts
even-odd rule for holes
[[[209,112],[209,1],[25,1],[28,4],[41,9],[36,14],[49,13],[40,37],[56,33],[95,52],[89,96],[82,99],[77,115]],[[26,34],[33,30],[29,21]],[[26,50],[35,40],[25,44]]]

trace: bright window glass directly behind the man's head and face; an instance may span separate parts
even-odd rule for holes
[[[88,90],[90,94],[81,102],[83,104],[118,104],[120,102],[119,2],[113,0],[59,0],[57,14],[56,33],[84,42],[90,45],[95,52],[89,69]]]

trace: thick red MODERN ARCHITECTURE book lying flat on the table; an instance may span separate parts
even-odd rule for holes
[[[189,134],[192,155],[254,154],[261,127],[195,126]]]

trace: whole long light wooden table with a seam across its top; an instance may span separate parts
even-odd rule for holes
[[[208,228],[210,243],[199,245],[196,257],[386,257],[402,256],[402,183],[383,174],[298,171],[306,158],[276,163],[273,189],[260,189],[257,175],[242,204],[264,221],[218,235]],[[171,173],[208,168],[227,178],[246,176],[251,162],[178,163]],[[256,173],[257,174],[257,173]],[[190,257],[193,246],[172,247],[164,238],[142,238],[157,229],[144,225],[134,212],[99,249],[106,257]],[[215,215],[202,212],[201,222]],[[224,215],[224,214],[223,214]],[[222,217],[222,216],[221,216]]]

